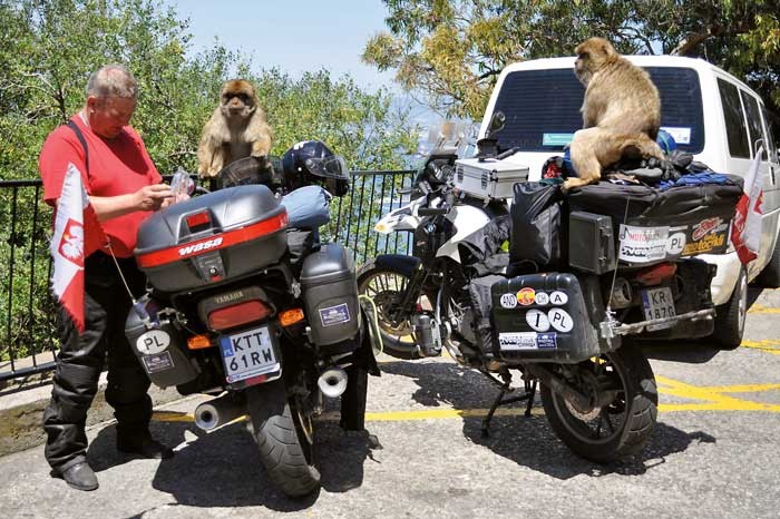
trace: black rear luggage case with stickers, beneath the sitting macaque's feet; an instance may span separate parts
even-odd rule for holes
[[[573,190],[567,202],[572,212],[612,219],[615,253],[624,264],[722,254],[729,247],[729,226],[742,196],[742,179],[729,178],[725,185],[665,190],[602,182]]]

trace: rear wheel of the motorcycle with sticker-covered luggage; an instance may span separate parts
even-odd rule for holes
[[[555,433],[575,453],[598,463],[638,453],[655,427],[659,404],[647,359],[624,345],[577,368],[566,379],[582,393],[602,396],[596,405],[578,409],[543,384],[542,404]]]

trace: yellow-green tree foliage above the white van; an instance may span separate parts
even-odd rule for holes
[[[481,118],[501,69],[572,56],[591,36],[623,53],[701,57],[780,107],[777,0],[383,0],[363,60],[450,115]]]

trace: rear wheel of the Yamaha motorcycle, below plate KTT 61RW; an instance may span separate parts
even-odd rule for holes
[[[303,405],[290,404],[284,382],[247,389],[246,408],[271,480],[290,497],[315,491],[320,471],[314,467],[314,425]]]

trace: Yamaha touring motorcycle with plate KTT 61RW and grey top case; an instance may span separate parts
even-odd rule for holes
[[[324,398],[340,396],[341,425],[362,430],[367,376],[379,374],[352,253],[318,243],[348,170],[304,141],[281,160],[233,163],[216,187],[142,225],[135,256],[150,290],[126,335],[153,383],[216,396],[195,409],[199,428],[248,414],[271,480],[304,496],[320,484],[313,418]]]

